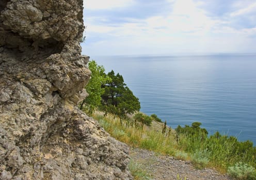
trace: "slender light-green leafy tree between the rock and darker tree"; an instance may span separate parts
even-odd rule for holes
[[[81,103],[80,109],[91,115],[101,105],[101,95],[105,91],[101,87],[102,84],[110,81],[110,78],[105,74],[104,67],[98,65],[94,60],[90,61],[88,66],[91,70],[91,78],[85,88],[89,95]]]

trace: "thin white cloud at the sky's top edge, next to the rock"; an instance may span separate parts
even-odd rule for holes
[[[84,0],[86,9],[112,9],[131,6],[133,0]]]

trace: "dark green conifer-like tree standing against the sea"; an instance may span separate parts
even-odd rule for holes
[[[120,118],[124,118],[128,113],[132,114],[139,111],[139,99],[126,86],[123,77],[119,73],[115,75],[113,70],[107,76],[110,79],[102,85],[105,93],[101,96],[105,113],[113,113]]]

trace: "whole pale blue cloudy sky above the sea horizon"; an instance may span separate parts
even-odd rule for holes
[[[86,55],[256,52],[255,0],[84,0]]]

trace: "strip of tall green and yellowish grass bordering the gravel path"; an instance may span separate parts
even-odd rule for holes
[[[95,114],[93,117],[99,120],[101,126],[111,136],[131,147],[191,160],[197,168],[213,167],[226,173],[229,167],[239,162],[252,168],[256,167],[256,148],[250,141],[239,142],[235,137],[219,133],[209,137],[203,134],[204,131],[197,133],[193,131],[192,134],[180,133],[177,140],[177,135],[169,133],[168,128],[163,134],[162,129],[157,131],[132,119],[122,120],[121,123],[112,115],[104,117]]]

